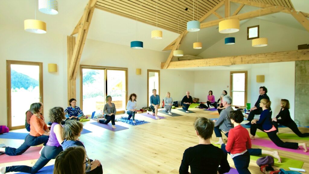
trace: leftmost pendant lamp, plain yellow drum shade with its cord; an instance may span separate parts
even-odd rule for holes
[[[24,20],[24,29],[30,33],[43,34],[46,33],[46,23],[36,20],[36,1],[35,1],[35,19]]]

